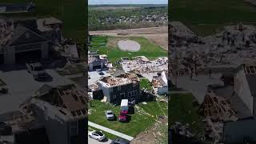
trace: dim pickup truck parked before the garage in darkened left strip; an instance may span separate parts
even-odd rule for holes
[[[46,70],[42,68],[39,62],[27,62],[26,70],[33,75],[35,80],[47,77]]]

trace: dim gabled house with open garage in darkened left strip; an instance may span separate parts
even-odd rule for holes
[[[56,18],[0,21],[0,64],[40,61],[61,41],[62,22]]]

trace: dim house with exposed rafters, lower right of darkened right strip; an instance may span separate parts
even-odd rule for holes
[[[232,75],[226,86],[210,87],[199,111],[213,121],[210,127],[221,142],[256,142],[256,64],[242,64]]]

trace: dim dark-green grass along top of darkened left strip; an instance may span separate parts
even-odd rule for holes
[[[22,3],[31,0],[0,0],[0,3]],[[55,17],[63,23],[62,31],[64,37],[74,38],[81,46],[86,39],[86,2],[83,0],[34,0],[36,7],[32,13],[2,14],[8,17]]]

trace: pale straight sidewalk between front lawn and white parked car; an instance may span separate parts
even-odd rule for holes
[[[120,138],[127,139],[127,140],[129,140],[129,141],[131,141],[131,140],[134,139],[133,137],[130,137],[129,135],[119,133],[118,131],[111,130],[111,129],[106,128],[106,127],[104,127],[104,126],[100,126],[100,125],[98,125],[98,124],[96,124],[96,123],[94,123],[94,122],[88,122],[88,125],[89,125],[89,126],[93,126],[93,127],[97,128],[97,129],[99,129],[99,130],[106,131],[106,132],[108,132],[108,133],[110,133],[110,134],[114,134],[114,135],[116,135],[116,136],[118,136],[118,137],[120,137]]]

